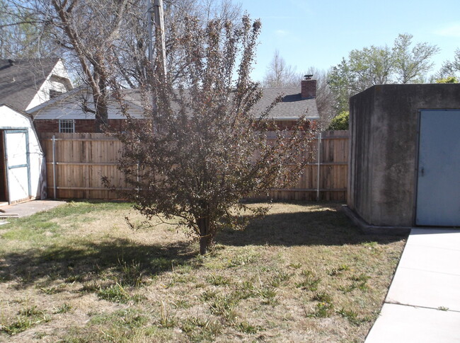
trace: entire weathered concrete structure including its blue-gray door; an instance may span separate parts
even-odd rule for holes
[[[367,228],[460,227],[460,84],[350,98],[347,207]]]

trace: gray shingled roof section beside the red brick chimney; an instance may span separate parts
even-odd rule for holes
[[[305,115],[307,118],[318,118],[316,99],[302,99],[300,87],[273,87],[262,88],[263,96],[254,106],[255,112],[263,112],[275,99],[282,95],[282,100],[270,111],[269,117],[273,118],[294,118]]]

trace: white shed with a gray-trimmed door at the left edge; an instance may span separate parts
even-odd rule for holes
[[[25,112],[0,104],[0,202],[45,199],[45,155]]]

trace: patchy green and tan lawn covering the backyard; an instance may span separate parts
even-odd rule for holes
[[[71,202],[0,226],[0,341],[363,342],[404,243],[274,204],[201,257],[129,204]]]

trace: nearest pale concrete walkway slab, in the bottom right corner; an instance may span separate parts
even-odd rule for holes
[[[384,304],[366,343],[458,343],[460,313]]]

